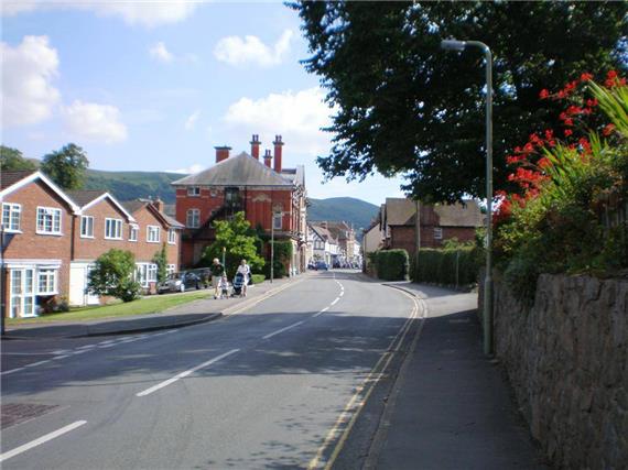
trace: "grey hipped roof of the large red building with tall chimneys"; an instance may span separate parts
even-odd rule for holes
[[[172,183],[173,186],[293,186],[290,175],[280,175],[246,152],[216,163],[210,168]]]

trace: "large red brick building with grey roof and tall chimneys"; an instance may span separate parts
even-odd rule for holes
[[[281,135],[274,152],[260,157],[259,135],[251,153],[230,156],[231,147],[217,146],[216,164],[172,183],[176,190],[176,220],[184,222],[181,262],[195,266],[214,241],[214,220],[243,211],[251,227],[292,243],[289,272],[306,267],[306,194],[303,165],[283,167]],[[263,162],[262,162],[263,160]]]

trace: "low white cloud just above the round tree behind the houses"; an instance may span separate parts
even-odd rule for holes
[[[76,100],[62,112],[73,136],[105,143],[127,139],[127,128],[120,122],[120,111],[115,106]]]

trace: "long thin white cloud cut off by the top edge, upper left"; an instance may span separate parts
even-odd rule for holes
[[[169,1],[102,1],[78,0],[74,2],[33,0],[29,2],[2,2],[2,14],[11,15],[33,10],[80,9],[91,10],[104,17],[121,17],[128,24],[156,26],[185,20],[201,4],[190,0]]]

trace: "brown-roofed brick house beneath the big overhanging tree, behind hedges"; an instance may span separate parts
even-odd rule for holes
[[[454,205],[420,205],[421,247],[438,248],[450,239],[461,242],[475,240],[484,216],[475,200]],[[414,253],[416,203],[403,198],[387,198],[380,209],[380,226],[385,249],[404,249]]]

